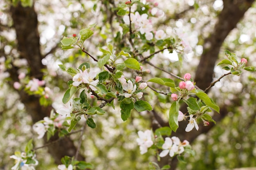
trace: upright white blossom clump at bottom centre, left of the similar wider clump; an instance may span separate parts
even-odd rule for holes
[[[139,138],[136,139],[140,153],[144,154],[148,152],[148,148],[150,148],[153,145],[153,141],[151,138],[151,131],[150,130],[145,130],[145,132],[142,132],[139,130],[138,132]]]

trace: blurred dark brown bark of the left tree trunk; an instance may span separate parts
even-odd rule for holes
[[[43,56],[40,53],[37,13],[34,10],[34,7],[22,7],[21,4],[18,4],[16,7],[12,6],[10,8],[10,13],[16,31],[20,58],[25,58],[27,60],[30,68],[29,75],[41,80],[43,77],[41,70],[45,68],[45,66],[41,62]],[[14,66],[9,70],[13,82],[18,81],[17,70],[18,68]],[[34,123],[50,115],[52,107],[40,106],[39,97],[28,95],[24,91],[18,91],[18,93],[20,94],[21,102],[25,105],[27,113],[31,115]],[[58,139],[57,135],[52,137],[50,141],[56,139]],[[55,163],[61,164],[61,158],[65,155],[70,157],[75,155],[76,147],[70,138],[64,138],[57,143],[50,145],[48,147],[48,152],[54,158]],[[84,160],[84,158],[79,155],[78,160]]]

